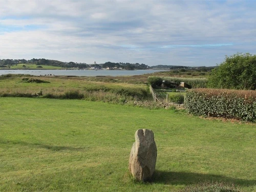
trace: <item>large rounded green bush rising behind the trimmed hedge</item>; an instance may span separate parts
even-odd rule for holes
[[[226,56],[225,61],[212,70],[208,87],[255,90],[256,55],[237,53]]]

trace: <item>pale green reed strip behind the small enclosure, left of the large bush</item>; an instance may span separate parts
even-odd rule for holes
[[[172,82],[185,82],[191,86],[191,88],[206,88],[207,78],[179,78],[179,77],[164,77],[163,80],[169,80]]]

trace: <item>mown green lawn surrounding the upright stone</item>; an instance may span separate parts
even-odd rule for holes
[[[200,181],[256,191],[254,124],[42,98],[0,98],[0,118],[0,191],[175,191]],[[155,134],[151,183],[128,170],[138,129]]]

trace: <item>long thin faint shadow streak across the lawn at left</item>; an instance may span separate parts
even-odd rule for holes
[[[28,142],[24,142],[24,141],[13,141],[13,140],[2,140],[2,139],[0,139],[0,143],[2,143],[2,144],[17,144],[17,145],[37,147],[37,148],[46,148],[47,150],[51,150],[51,151],[64,151],[64,150],[83,151],[83,150],[85,150],[85,148],[82,148],[82,147],[47,145],[47,144],[42,144],[42,143],[28,143]]]

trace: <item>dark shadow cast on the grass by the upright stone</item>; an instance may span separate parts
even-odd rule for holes
[[[163,183],[167,185],[192,185],[202,182],[225,182],[228,184],[240,185],[240,186],[253,186],[256,185],[256,180],[230,178],[221,175],[211,174],[198,174],[198,173],[186,173],[186,172],[165,172],[156,170],[152,183]]]

